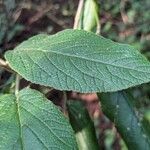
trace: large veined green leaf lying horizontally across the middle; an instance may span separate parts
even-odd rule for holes
[[[133,47],[83,30],[34,36],[5,58],[26,80],[59,90],[108,92],[150,81],[150,62]]]

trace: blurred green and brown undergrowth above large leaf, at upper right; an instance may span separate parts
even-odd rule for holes
[[[102,35],[149,51],[149,0],[100,0],[100,6]]]

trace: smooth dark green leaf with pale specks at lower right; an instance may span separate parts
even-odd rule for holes
[[[133,97],[125,91],[98,94],[102,111],[114,122],[129,150],[149,150],[150,137],[134,111]]]

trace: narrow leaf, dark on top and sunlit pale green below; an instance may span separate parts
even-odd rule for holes
[[[68,101],[68,114],[79,150],[99,150],[94,123],[83,103]]]

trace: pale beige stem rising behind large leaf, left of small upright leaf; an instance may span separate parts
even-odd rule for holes
[[[74,29],[78,28],[81,13],[82,13],[82,10],[83,10],[83,6],[84,6],[84,0],[80,0],[78,8],[77,8],[77,13],[76,13],[76,16],[75,16],[75,20],[74,20],[74,26],[73,26]]]

